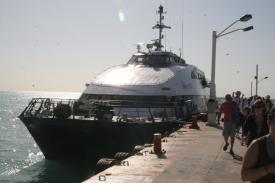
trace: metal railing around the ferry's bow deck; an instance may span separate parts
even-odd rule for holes
[[[33,98],[20,117],[56,118],[54,110],[57,106],[69,107],[70,118],[99,118],[111,116],[115,121],[168,121],[177,119],[181,114],[181,104],[170,101],[130,101],[130,100],[89,100],[85,103],[75,99]],[[105,108],[106,107],[106,108]],[[107,109],[107,110],[105,110]],[[103,110],[103,111],[102,111]]]

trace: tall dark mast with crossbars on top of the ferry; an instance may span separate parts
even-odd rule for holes
[[[163,39],[163,35],[162,35],[162,30],[163,29],[171,29],[171,27],[166,26],[163,24],[163,20],[164,20],[164,16],[163,14],[165,14],[166,12],[163,12],[163,6],[160,5],[159,9],[158,9],[158,14],[159,14],[159,22],[157,22],[157,24],[155,26],[153,26],[153,29],[159,29],[159,38],[156,39],[154,46],[156,46],[156,50],[157,51],[161,51],[161,48],[163,47],[163,45],[161,44],[161,39]]]

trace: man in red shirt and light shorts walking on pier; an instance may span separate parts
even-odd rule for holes
[[[235,112],[236,111],[236,104],[232,101],[232,97],[230,94],[225,95],[225,102],[220,106],[220,112],[218,115],[218,123],[220,122],[221,114],[224,114],[223,120],[223,137],[225,141],[225,145],[223,146],[223,150],[226,151],[229,143],[228,139],[230,137],[230,154],[234,155],[233,146],[235,140]]]

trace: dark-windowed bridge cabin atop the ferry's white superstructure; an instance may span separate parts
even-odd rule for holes
[[[186,66],[184,59],[180,58],[172,52],[139,52],[135,53],[128,61],[128,65],[144,65],[149,67],[168,67],[170,65],[183,65]]]

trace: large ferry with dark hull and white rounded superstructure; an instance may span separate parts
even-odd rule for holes
[[[120,66],[99,74],[77,100],[34,98],[20,114],[46,159],[101,158],[151,143],[191,115],[207,111],[209,84],[204,72],[163,50],[163,6],[158,39],[137,45]]]

